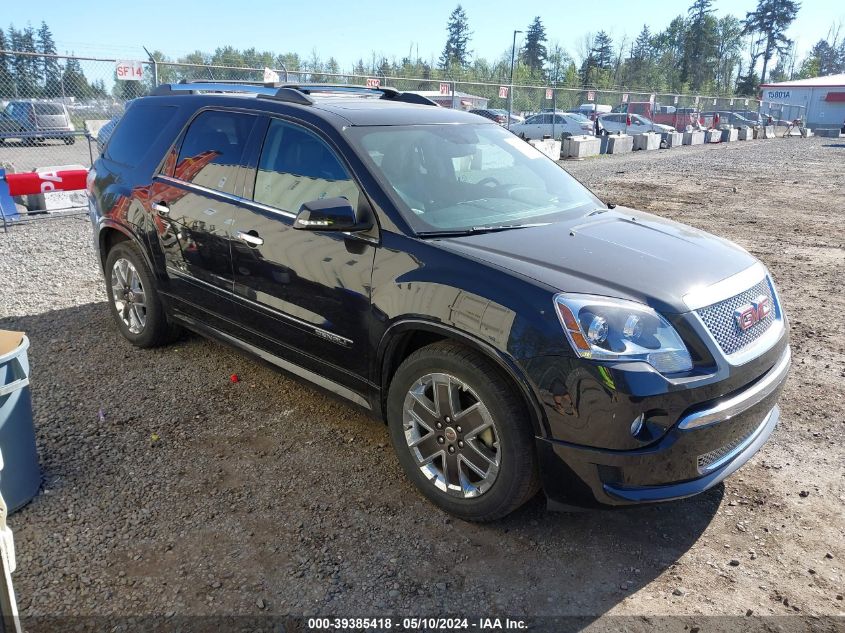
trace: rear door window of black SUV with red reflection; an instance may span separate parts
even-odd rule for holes
[[[174,176],[223,193],[235,193],[238,168],[256,119],[241,112],[201,112],[185,133]]]

